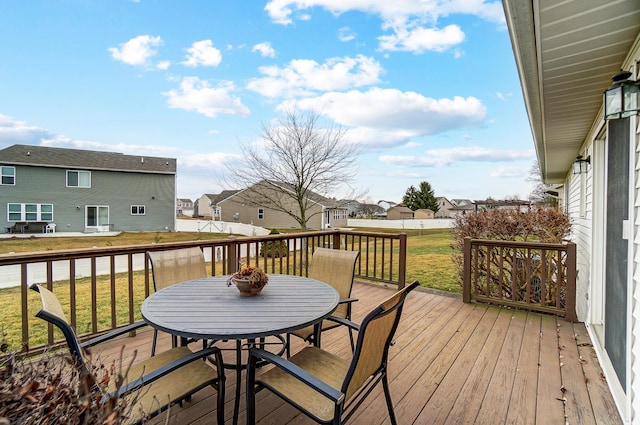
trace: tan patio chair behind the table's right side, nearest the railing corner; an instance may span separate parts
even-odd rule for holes
[[[355,298],[351,298],[351,289],[353,288],[353,276],[359,255],[360,251],[342,251],[328,248],[316,248],[313,253],[309,277],[333,286],[340,295],[338,307],[332,313],[334,317],[351,320],[351,305],[355,301],[358,301]],[[341,326],[341,323],[332,320],[323,320],[320,332],[338,326]],[[349,327],[347,328],[349,330],[351,351],[353,351],[353,330]],[[291,355],[291,335],[319,346],[319,341],[315,340],[316,335],[314,334],[313,326],[296,330],[287,334],[287,357]]]

